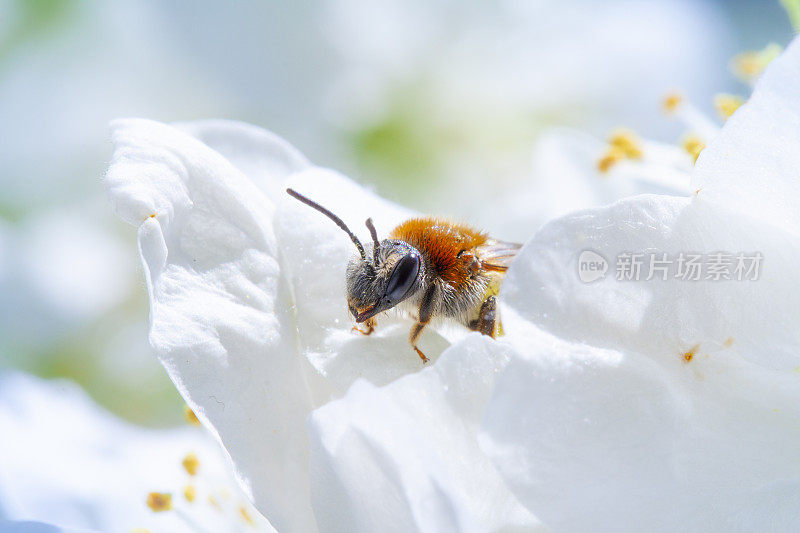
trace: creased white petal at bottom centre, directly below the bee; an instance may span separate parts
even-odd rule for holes
[[[357,381],[316,410],[312,497],[323,531],[530,531],[540,527],[480,451],[476,430],[498,343],[472,334],[433,367],[376,388]]]

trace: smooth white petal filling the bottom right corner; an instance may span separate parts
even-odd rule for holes
[[[487,408],[483,449],[557,531],[791,531],[797,374],[735,350],[519,351]]]

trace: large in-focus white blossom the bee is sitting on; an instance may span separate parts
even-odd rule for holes
[[[138,228],[150,341],[279,530],[788,530],[798,58],[795,44],[700,154],[699,192],[549,222],[504,283],[506,335],[432,328],[427,368],[402,318],[350,332],[352,244],[282,190],[362,237],[368,216],[386,235],[408,211],[258,128],[118,121],[105,185]],[[764,264],[756,282],[584,283],[584,249]]]

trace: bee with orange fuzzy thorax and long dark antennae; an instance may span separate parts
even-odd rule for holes
[[[436,217],[406,220],[379,240],[372,219],[367,250],[342,220],[293,189],[286,192],[330,218],[358,250],[347,265],[347,306],[364,335],[375,331],[375,316],[392,308],[416,318],[409,343],[423,363],[417,341],[432,319],[447,318],[494,338],[502,334],[496,295],[521,245],[490,238],[465,224]],[[371,252],[371,253],[368,253]]]

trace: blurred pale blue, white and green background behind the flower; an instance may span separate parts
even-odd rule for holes
[[[665,92],[710,112],[749,94],[731,57],[791,37],[778,0],[0,1],[0,367],[72,378],[138,423],[181,419],[135,231],[102,191],[113,118],[251,122],[469,219],[530,178],[545,129],[675,142]]]

